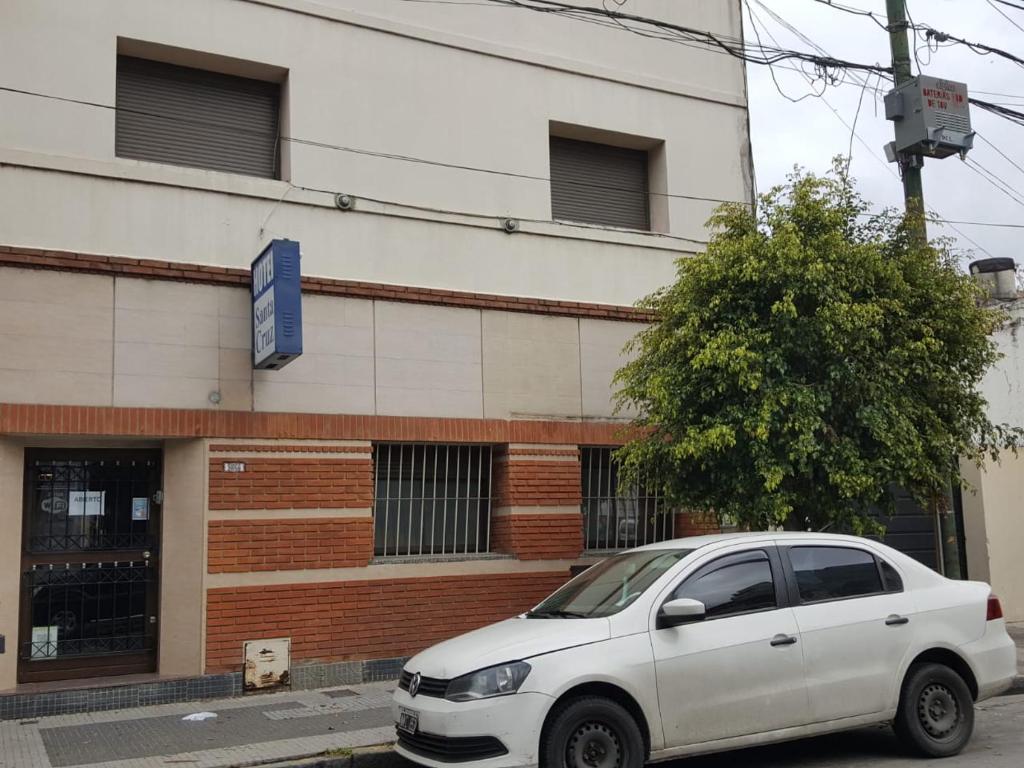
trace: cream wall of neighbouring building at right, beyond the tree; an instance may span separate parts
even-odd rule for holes
[[[1006,306],[1010,318],[995,333],[1004,355],[982,382],[988,418],[1024,428],[1024,299]],[[982,469],[962,463],[968,575],[987,581],[1009,621],[1024,621],[1024,455],[1006,451]]]

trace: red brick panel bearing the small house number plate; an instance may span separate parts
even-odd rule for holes
[[[225,461],[245,471],[225,472]],[[210,509],[367,509],[373,494],[369,458],[210,460]]]

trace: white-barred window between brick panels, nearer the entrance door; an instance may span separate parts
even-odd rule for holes
[[[490,446],[374,446],[374,552],[478,554],[490,546]]]

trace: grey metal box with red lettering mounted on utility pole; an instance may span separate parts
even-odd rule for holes
[[[974,146],[966,83],[920,75],[887,93],[885,102],[897,153],[947,158]]]

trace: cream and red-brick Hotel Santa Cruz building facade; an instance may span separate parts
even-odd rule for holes
[[[0,69],[0,690],[238,690],[283,638],[293,684],[393,676],[699,527],[616,494],[611,377],[751,200],[737,59],[503,5],[9,0]],[[271,241],[303,352],[254,370]]]

